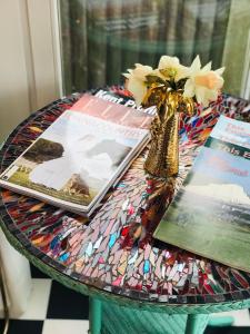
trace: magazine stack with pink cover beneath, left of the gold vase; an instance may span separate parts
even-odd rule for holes
[[[149,141],[151,119],[84,94],[0,175],[0,186],[89,216]]]

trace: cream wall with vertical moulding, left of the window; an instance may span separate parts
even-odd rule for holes
[[[0,1],[0,143],[60,96],[57,1]]]

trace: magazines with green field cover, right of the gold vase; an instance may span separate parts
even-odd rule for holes
[[[250,124],[220,116],[154,237],[250,272]]]

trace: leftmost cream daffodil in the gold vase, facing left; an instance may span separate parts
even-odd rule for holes
[[[129,69],[129,73],[123,73],[123,76],[128,79],[128,90],[132,92],[136,104],[139,106],[147,94],[146,77],[152,72],[152,68],[141,63],[134,66],[134,69]]]

